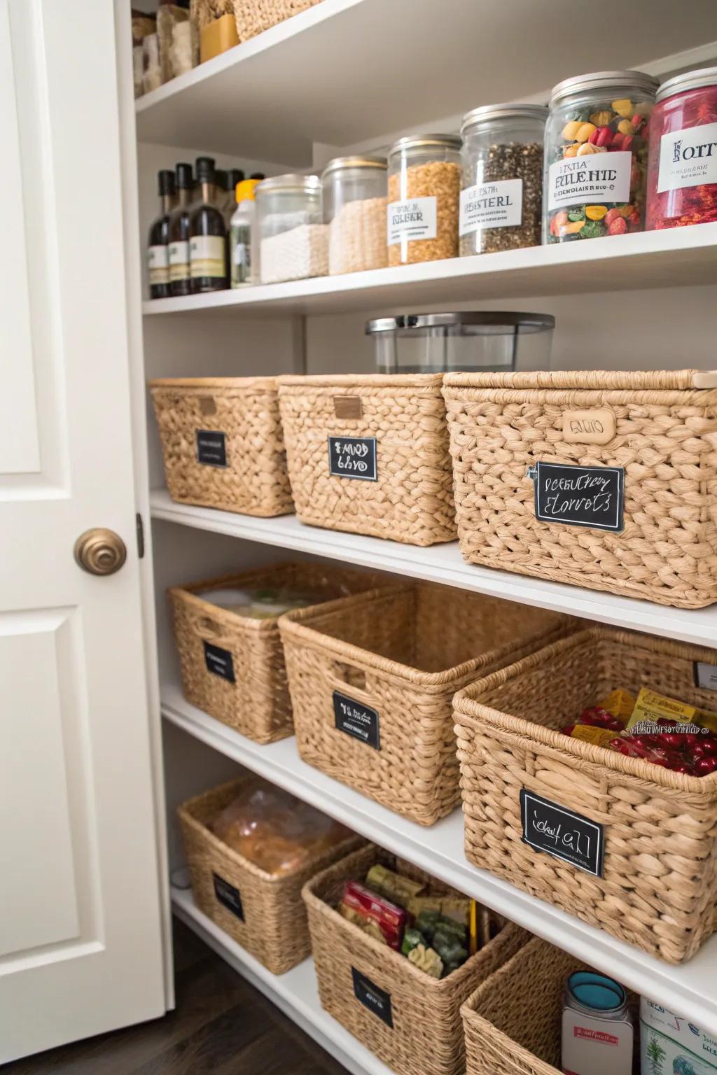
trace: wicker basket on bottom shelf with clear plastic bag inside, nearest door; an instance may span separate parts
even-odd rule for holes
[[[350,836],[293,874],[266,873],[209,828],[245,780],[223,784],[178,807],[191,888],[200,911],[269,971],[284,974],[311,951],[302,886],[363,841]]]

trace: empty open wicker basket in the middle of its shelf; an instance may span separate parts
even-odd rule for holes
[[[433,825],[460,801],[456,690],[569,622],[429,583],[289,613],[279,630],[299,752],[384,806]]]

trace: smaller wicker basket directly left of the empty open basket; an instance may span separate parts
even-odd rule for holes
[[[185,698],[255,743],[293,734],[278,617],[239,616],[197,593],[233,586],[286,586],[329,600],[375,584],[375,574],[340,565],[278,563],[172,587],[169,597]]]

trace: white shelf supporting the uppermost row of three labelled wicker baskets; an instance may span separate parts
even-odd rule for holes
[[[152,517],[182,526],[230,534],[246,541],[275,545],[278,548],[311,553],[331,560],[342,560],[388,571],[408,578],[443,583],[476,593],[489,593],[506,601],[550,608],[572,616],[614,627],[646,631],[665,639],[717,646],[717,605],[707,608],[665,608],[651,601],[622,598],[579,586],[529,578],[507,571],[496,571],[467,563],[458,542],[417,548],[381,538],[321,530],[299,522],[296,515],[258,519],[211,507],[175,504],[166,489],[154,489],[149,499]]]

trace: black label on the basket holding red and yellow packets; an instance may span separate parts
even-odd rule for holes
[[[602,877],[603,827],[582,814],[520,789],[522,842]]]

